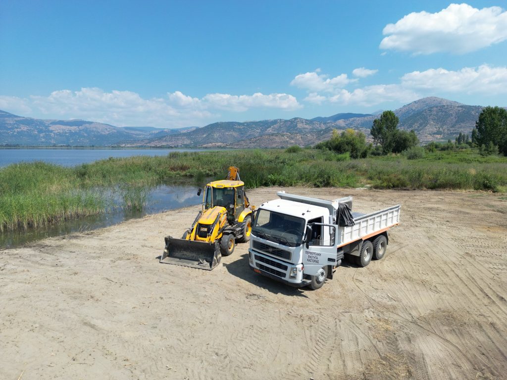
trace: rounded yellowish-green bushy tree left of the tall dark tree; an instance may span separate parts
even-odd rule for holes
[[[372,144],[366,143],[366,136],[363,132],[347,129],[339,133],[333,130],[331,139],[318,143],[316,148],[328,148],[336,153],[349,153],[351,158],[366,158],[373,149]]]

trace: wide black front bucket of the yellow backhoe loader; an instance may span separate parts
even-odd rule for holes
[[[222,254],[218,242],[206,243],[165,237],[165,249],[160,262],[211,271],[220,263]]]

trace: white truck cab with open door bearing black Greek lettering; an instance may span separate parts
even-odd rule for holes
[[[288,285],[322,284],[343,257],[330,217],[321,206],[283,199],[263,203],[253,222],[250,266]]]

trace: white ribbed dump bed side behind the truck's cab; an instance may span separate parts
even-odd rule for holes
[[[400,208],[400,205],[396,205],[370,214],[352,213],[355,224],[351,227],[340,227],[338,246],[359,239],[365,240],[387,231],[389,227],[400,222]]]

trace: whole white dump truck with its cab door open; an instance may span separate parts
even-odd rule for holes
[[[400,222],[400,205],[362,214],[352,197],[327,201],[276,193],[255,212],[248,259],[261,275],[295,287],[322,287],[345,255],[360,267],[386,252],[387,231]]]

